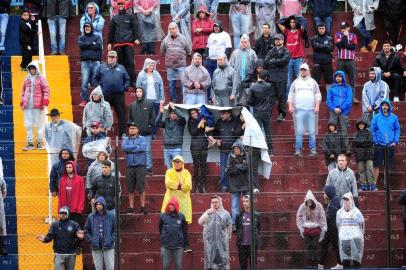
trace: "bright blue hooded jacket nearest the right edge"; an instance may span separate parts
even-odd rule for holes
[[[382,104],[389,105],[389,114],[382,113]],[[388,99],[379,106],[379,114],[374,116],[371,124],[372,139],[376,145],[398,144],[400,139],[400,124],[398,117],[392,113],[392,105]]]

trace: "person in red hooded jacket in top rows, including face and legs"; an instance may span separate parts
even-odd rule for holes
[[[213,32],[214,21],[206,6],[201,6],[192,22],[192,50],[201,55],[207,47],[207,40]]]

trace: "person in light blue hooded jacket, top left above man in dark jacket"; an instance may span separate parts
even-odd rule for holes
[[[89,2],[86,5],[82,18],[80,18],[80,32],[83,35],[85,33],[85,23],[90,23],[93,26],[93,34],[100,37],[103,45],[104,18],[100,14],[99,6],[95,2]]]

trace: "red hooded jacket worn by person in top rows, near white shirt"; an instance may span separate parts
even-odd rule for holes
[[[207,12],[207,8],[202,6],[200,10]],[[198,16],[199,13],[196,14]],[[209,15],[203,20],[195,18],[192,22],[192,50],[205,49],[207,46],[207,39],[209,35],[213,32],[213,20]],[[202,31],[195,33],[196,28],[202,28]]]

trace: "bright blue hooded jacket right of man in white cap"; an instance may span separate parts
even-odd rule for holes
[[[337,84],[335,77],[340,75],[343,78],[342,84]],[[331,112],[335,108],[341,109],[342,115],[348,115],[352,107],[352,90],[345,80],[345,73],[341,70],[334,73],[334,85],[327,91],[327,106]]]

